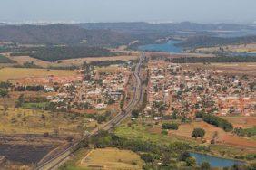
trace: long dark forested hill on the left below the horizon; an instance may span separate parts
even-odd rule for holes
[[[78,44],[92,46],[119,45],[130,42],[125,33],[111,30],[85,30],[69,24],[0,26],[0,41],[29,44]]]

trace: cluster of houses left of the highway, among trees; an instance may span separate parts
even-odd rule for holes
[[[122,99],[129,75],[126,68],[94,71],[90,80],[64,84],[51,101],[66,109],[106,109]]]

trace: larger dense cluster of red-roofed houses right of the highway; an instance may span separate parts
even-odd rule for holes
[[[213,70],[188,69],[165,61],[149,62],[148,105],[158,115],[173,112],[193,118],[198,111],[216,115],[256,114],[255,78]]]

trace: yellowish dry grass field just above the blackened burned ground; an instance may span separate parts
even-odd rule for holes
[[[89,128],[87,118],[72,118],[72,115],[50,113],[32,109],[5,109],[0,106],[1,134],[50,134],[78,135]],[[92,126],[94,126],[92,124]]]

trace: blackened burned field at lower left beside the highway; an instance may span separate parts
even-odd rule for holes
[[[22,165],[38,163],[54,148],[64,145],[61,138],[39,135],[1,135],[0,156]]]

